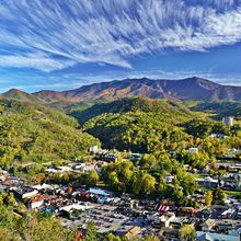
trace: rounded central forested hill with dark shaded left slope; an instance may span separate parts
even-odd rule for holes
[[[96,104],[72,115],[104,147],[140,152],[173,149],[174,144],[188,141],[182,124],[200,117],[180,102],[141,97]]]

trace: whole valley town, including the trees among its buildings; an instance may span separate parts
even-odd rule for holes
[[[41,170],[44,172],[43,177],[38,183],[14,176],[12,171],[1,170],[0,188],[8,193],[9,202],[13,202],[16,213],[21,204],[28,211],[60,217],[64,227],[78,227],[81,233],[91,221],[97,233],[112,232],[127,240],[139,240],[150,234],[160,240],[180,240],[182,232],[183,236],[193,236],[192,230],[195,231],[194,238],[199,241],[240,240],[241,164],[233,159],[233,154],[240,153],[240,150],[228,150],[228,161],[217,162],[222,175],[211,174],[209,165],[202,172],[192,170],[199,187],[188,199],[196,202],[196,207],[180,205],[175,199],[162,196],[137,198],[133,194],[116,194],[106,190],[103,181],[96,177],[102,176],[103,167],[137,162],[144,153],[122,153],[102,150],[97,146],[92,146],[89,151],[92,159],[88,162],[71,160],[65,165],[44,163]],[[196,153],[198,148],[186,151]],[[183,168],[191,171],[188,164]],[[34,164],[25,165],[23,170],[27,172],[32,169]],[[74,177],[71,180],[71,175],[79,174],[92,175],[87,185],[76,182]],[[173,185],[174,180],[175,176],[165,175],[164,184]],[[213,202],[210,190],[221,191],[216,203]]]

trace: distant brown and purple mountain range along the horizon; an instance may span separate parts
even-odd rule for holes
[[[69,91],[39,91],[27,94],[11,89],[2,94],[7,99],[30,102],[113,101],[120,97],[144,96],[195,101],[241,101],[241,87],[221,85],[207,79],[192,77],[181,80],[148,78],[100,82]]]

